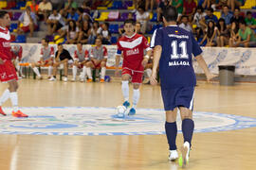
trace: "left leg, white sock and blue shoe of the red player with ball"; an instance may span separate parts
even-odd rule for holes
[[[129,103],[129,79],[131,77],[131,71],[127,69],[122,70],[121,75],[121,92],[124,98],[123,106],[128,108],[130,106]]]

